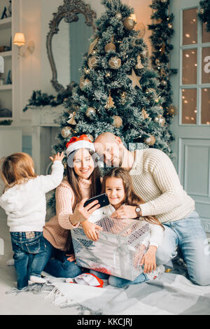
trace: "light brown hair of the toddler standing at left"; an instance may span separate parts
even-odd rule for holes
[[[22,184],[29,179],[34,179],[34,161],[27,153],[19,152],[1,159],[0,175],[5,188]]]

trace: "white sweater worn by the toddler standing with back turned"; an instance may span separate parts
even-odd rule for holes
[[[10,232],[43,231],[46,215],[45,193],[53,190],[62,182],[64,166],[54,161],[52,173],[37,176],[27,183],[15,185],[0,197],[0,206],[8,215]]]

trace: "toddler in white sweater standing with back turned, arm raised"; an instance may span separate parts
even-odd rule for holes
[[[0,206],[8,215],[18,289],[32,282],[43,283],[41,271],[45,259],[43,225],[45,193],[53,190],[63,178],[64,154],[52,160],[52,174],[36,176],[34,162],[27,153],[14,153],[1,160],[1,179],[5,184]]]

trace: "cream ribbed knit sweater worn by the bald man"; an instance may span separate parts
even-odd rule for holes
[[[178,221],[195,209],[194,200],[183,190],[169,157],[155,148],[135,151],[130,170],[135,192],[146,202],[142,216],[156,216],[161,223]]]

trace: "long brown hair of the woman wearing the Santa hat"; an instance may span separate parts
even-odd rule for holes
[[[100,180],[100,172],[99,172],[99,167],[97,165],[97,157],[96,153],[94,153],[92,150],[87,149],[92,156],[92,159],[94,160],[94,171],[90,175],[90,197],[94,197],[96,195],[99,195],[102,190],[102,183]],[[72,161],[74,158],[76,151],[72,152],[69,156],[71,157]],[[73,195],[74,195],[74,202],[73,202],[73,207],[72,210],[74,211],[76,204],[78,204],[82,199],[82,192],[80,190],[80,184],[79,184],[79,176],[76,174],[76,172],[73,169],[73,166],[67,167],[67,179],[69,182],[69,185],[71,186],[73,190]],[[66,246],[65,246],[66,251],[69,253],[73,253],[73,244],[72,244],[72,239],[71,239],[71,230],[69,230],[69,235],[66,239]]]

